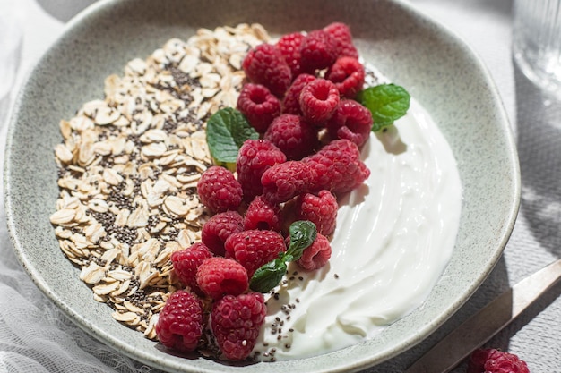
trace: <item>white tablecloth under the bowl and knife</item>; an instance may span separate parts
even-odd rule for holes
[[[23,35],[21,64],[9,98],[13,98],[13,92],[32,64],[62,32],[64,22],[89,2],[40,0],[39,3],[44,4],[42,8],[34,0],[0,0],[0,15],[12,12],[11,18],[18,20]],[[561,255],[561,148],[558,146],[561,144],[561,103],[542,97],[512,62],[512,2],[411,2],[421,12],[456,32],[488,66],[503,97],[517,138],[522,170],[522,207],[503,258],[470,301],[426,341],[368,372],[401,371],[497,294]],[[0,33],[5,30],[2,20],[0,17]],[[0,53],[5,54],[4,48],[0,48]],[[2,165],[6,137],[4,114],[9,107],[8,99],[0,94]],[[0,200],[0,258],[0,370],[157,371],[119,354],[82,332],[39,292],[13,255],[5,225],[4,200]],[[486,346],[518,354],[528,362],[532,373],[561,372],[559,294],[561,283]],[[465,365],[454,370],[455,373],[463,371]]]

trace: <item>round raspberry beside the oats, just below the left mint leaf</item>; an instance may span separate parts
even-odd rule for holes
[[[242,187],[234,174],[219,165],[211,166],[201,175],[197,192],[203,205],[213,213],[236,210],[242,201]]]

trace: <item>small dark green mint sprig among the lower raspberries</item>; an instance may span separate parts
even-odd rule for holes
[[[279,258],[257,268],[251,277],[249,288],[255,292],[270,292],[286,274],[287,263],[300,259],[304,250],[315,241],[317,229],[308,220],[298,220],[289,227],[289,248],[279,254]]]

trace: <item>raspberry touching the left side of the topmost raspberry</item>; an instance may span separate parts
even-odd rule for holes
[[[316,70],[325,69],[335,62],[337,44],[324,30],[313,30],[302,40],[300,55],[302,71],[314,74]]]

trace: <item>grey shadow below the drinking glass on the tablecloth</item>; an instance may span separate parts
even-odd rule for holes
[[[561,100],[544,95],[514,64],[522,216],[536,241],[561,256]]]

